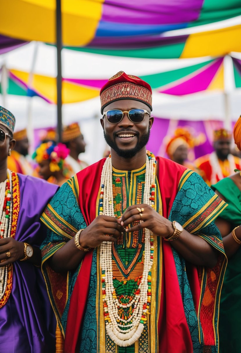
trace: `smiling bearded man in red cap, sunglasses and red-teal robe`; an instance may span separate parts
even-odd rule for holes
[[[202,178],[146,150],[148,83],[102,87],[111,156],[77,173],[41,216],[42,270],[65,353],[218,352],[225,208]]]

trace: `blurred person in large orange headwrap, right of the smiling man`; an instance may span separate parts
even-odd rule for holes
[[[203,134],[195,138],[187,128],[177,127],[174,136],[166,138],[166,154],[172,161],[199,173],[198,168],[189,161],[188,157],[190,149],[203,143],[204,138]]]

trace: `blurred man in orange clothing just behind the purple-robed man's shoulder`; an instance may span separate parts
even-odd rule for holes
[[[13,151],[10,151],[7,158],[7,167],[16,173],[33,175],[34,170],[26,156],[28,155],[29,142],[27,130],[23,129],[13,134],[16,144]]]

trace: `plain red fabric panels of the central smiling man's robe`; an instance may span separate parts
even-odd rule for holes
[[[177,194],[178,183],[186,168],[162,157],[156,159],[163,216],[168,218]],[[96,217],[96,200],[100,190],[100,178],[104,162],[105,159],[102,159],[77,174],[80,189],[79,205],[87,226]],[[171,246],[168,242],[163,241],[162,243],[163,274],[158,321],[159,351],[165,353],[192,352],[192,339],[183,309]],[[64,341],[65,353],[79,352],[77,345],[87,303],[91,265],[92,252],[88,252],[83,259],[71,295]],[[200,288],[200,286],[198,287]],[[199,295],[200,289],[197,297]]]

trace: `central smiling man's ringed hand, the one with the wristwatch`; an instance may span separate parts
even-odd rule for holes
[[[139,223],[128,228],[135,221],[139,221]],[[128,207],[122,217],[118,219],[118,223],[125,228],[125,232],[140,231],[140,229],[147,228],[160,237],[170,237],[174,232],[172,222],[159,215],[157,211],[147,204]]]

